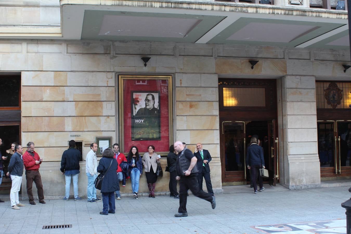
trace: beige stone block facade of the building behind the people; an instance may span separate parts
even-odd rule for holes
[[[1,6],[0,10],[13,15],[10,8]],[[21,19],[18,25],[27,25],[23,30],[28,33],[33,33],[33,25],[39,21],[45,25],[46,33],[55,33],[57,28],[52,24],[60,23],[58,9],[60,5],[27,6],[22,8],[21,15],[14,14],[13,20]],[[40,17],[25,18],[29,12],[40,13]],[[11,23],[11,18],[0,21]],[[10,33],[16,29],[6,30]],[[44,29],[37,30],[35,33],[40,37],[44,33],[40,30]],[[85,158],[90,151],[88,145],[97,136],[111,136],[112,144],[121,139],[119,126],[124,123],[119,120],[123,113],[118,102],[118,76],[126,74],[172,77],[170,140],[184,141],[191,150],[196,143],[203,143],[212,155],[211,179],[217,193],[226,185],[219,81],[275,80],[279,138],[276,182],[292,189],[320,186],[316,81],[349,80],[351,69],[344,72],[342,66],[350,60],[347,49],[0,36],[0,75],[21,77],[20,141],[22,145],[33,141],[35,151],[44,158],[40,173],[47,197],[63,195],[65,180],[59,168],[69,140],[82,141]],[[146,67],[141,60],[145,55],[151,58]],[[258,61],[253,69],[249,60]],[[233,116],[236,114],[233,112]],[[350,117],[345,120],[351,119],[349,110],[346,114]],[[165,168],[165,158],[161,165]],[[85,196],[85,161],[80,168],[79,195]],[[169,173],[164,173],[158,179],[158,192],[168,191],[168,176]],[[25,188],[23,178],[22,197],[26,197]],[[121,192],[131,193],[130,182]],[[147,192],[145,176],[141,176],[140,192]]]

